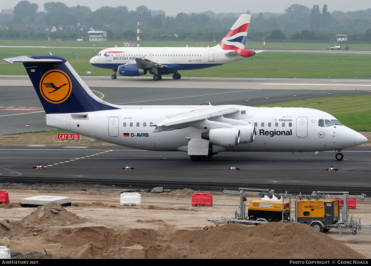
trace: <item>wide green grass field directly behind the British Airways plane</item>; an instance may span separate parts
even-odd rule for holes
[[[78,42],[81,43],[81,42]],[[327,46],[326,46],[327,47]],[[109,69],[90,65],[89,60],[101,48],[2,47],[0,58],[20,55],[46,55],[51,52],[66,58],[80,76],[90,71],[93,76],[110,76]],[[337,53],[263,52],[251,58],[201,70],[182,71],[184,77],[247,77],[247,78],[324,78],[370,76],[370,55]],[[26,75],[23,65],[0,63],[0,75]]]

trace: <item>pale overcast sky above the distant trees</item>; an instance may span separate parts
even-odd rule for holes
[[[31,3],[39,5],[39,11],[43,11],[44,3],[48,0],[29,0]],[[7,0],[1,1],[1,9],[9,9],[14,7],[20,0]],[[312,8],[314,4],[318,4],[320,9],[324,4],[327,4],[328,11],[339,10],[342,12],[355,11],[371,8],[370,0],[264,0],[264,1],[251,1],[251,0],[109,0],[107,2],[101,0],[55,0],[53,2],[62,2],[67,6],[88,6],[92,11],[97,10],[101,6],[127,6],[129,10],[135,10],[138,6],[147,6],[151,10],[164,10],[167,16],[176,16],[180,12],[203,12],[211,10],[214,13],[225,12],[246,12],[250,10],[253,13],[283,13],[285,9],[292,4],[303,4]],[[226,4],[227,3],[227,4]]]

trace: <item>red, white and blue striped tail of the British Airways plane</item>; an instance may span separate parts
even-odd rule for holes
[[[233,50],[243,57],[255,55],[254,51],[244,49],[250,18],[251,14],[244,14],[237,19],[236,23],[234,23],[227,35],[219,43],[221,49]]]

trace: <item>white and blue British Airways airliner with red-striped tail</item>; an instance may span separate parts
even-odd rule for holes
[[[112,79],[116,78],[117,71],[121,76],[141,76],[149,72],[155,81],[170,74],[173,74],[173,79],[180,79],[179,70],[211,68],[264,52],[244,49],[250,18],[250,14],[241,15],[214,47],[116,46],[102,50],[90,63],[98,68],[112,69]]]

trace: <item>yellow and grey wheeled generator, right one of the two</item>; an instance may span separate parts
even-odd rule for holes
[[[309,224],[317,231],[328,231],[326,225],[340,220],[339,200],[303,199],[296,201],[296,221]]]

